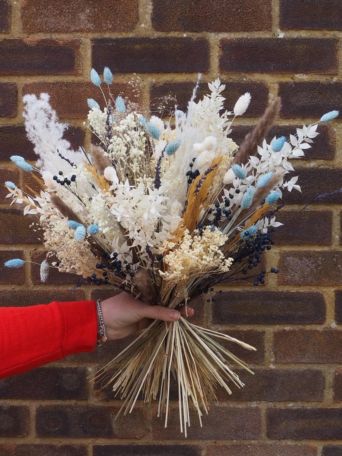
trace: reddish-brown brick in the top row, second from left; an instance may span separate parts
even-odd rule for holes
[[[21,6],[25,33],[118,32],[133,30],[138,0],[26,0]]]

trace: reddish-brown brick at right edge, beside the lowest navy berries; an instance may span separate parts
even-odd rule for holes
[[[342,252],[284,250],[278,264],[280,285],[342,285]]]

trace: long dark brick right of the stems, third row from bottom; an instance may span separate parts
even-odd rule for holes
[[[220,388],[218,399],[262,401],[322,401],[324,398],[324,375],[313,369],[252,369],[250,375],[244,369],[233,369],[244,388],[233,389],[231,396]]]

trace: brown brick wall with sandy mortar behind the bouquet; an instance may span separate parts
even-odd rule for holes
[[[172,91],[185,107],[198,72],[220,73],[232,107],[252,94],[236,123],[239,140],[278,93],[283,108],[273,135],[342,108],[341,0],[0,0],[0,181],[34,185],[11,166],[12,154],[34,160],[21,118],[24,93],[51,94],[57,114],[85,145],[86,98],[100,94],[91,67],[108,65],[114,93],[141,78],[143,102]],[[205,89],[205,83],[200,87]],[[127,88],[128,90],[128,88]],[[267,285],[223,288],[215,305],[197,301],[195,320],[258,348],[234,347],[254,377],[243,390],[192,421],[187,441],[177,410],[169,425],[136,407],[114,421],[119,402],[85,377],[127,341],[0,381],[1,456],[337,456],[342,455],[342,124],[320,127],[304,160],[294,160],[302,193],[286,192],[277,244],[267,256],[278,267]],[[69,135],[72,138],[72,135]],[[9,208],[0,187],[0,264],[39,261],[43,248],[30,221]],[[308,205],[305,210],[303,206]],[[1,267],[1,266],[0,266]],[[71,275],[41,285],[36,266],[1,267],[1,305],[70,300]],[[74,299],[109,295],[83,288]]]

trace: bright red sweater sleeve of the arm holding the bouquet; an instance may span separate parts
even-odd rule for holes
[[[0,307],[0,378],[92,352],[96,338],[94,301]]]

